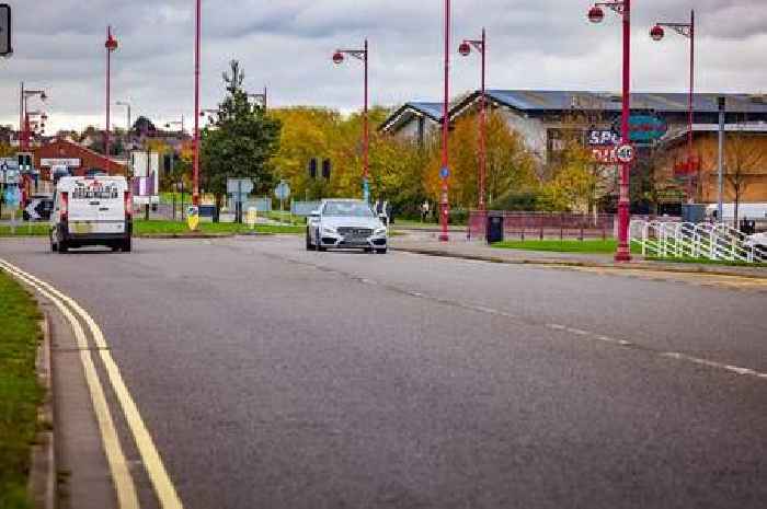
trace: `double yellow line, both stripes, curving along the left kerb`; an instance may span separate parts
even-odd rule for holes
[[[162,463],[160,453],[154,446],[154,442],[147,429],[147,426],[141,419],[138,407],[130,396],[128,387],[125,385],[123,375],[112,358],[110,348],[104,339],[104,334],[101,327],[95,323],[90,314],[83,310],[75,300],[65,296],[53,286],[36,278],[35,276],[25,273],[19,267],[0,258],[0,268],[8,271],[10,275],[20,281],[28,285],[37,290],[43,297],[48,299],[61,312],[64,317],[69,322],[77,339],[77,345],[80,350],[80,361],[85,373],[85,381],[91,394],[91,402],[95,412],[99,429],[101,432],[102,443],[106,453],[106,461],[110,465],[110,472],[115,485],[117,494],[117,504],[119,509],[139,509],[136,485],[130,474],[130,468],[125,459],[125,453],[119,443],[119,437],[112,419],[112,413],[106,403],[104,387],[99,380],[99,375],[91,357],[90,346],[85,336],[85,332],[78,320],[87,325],[93,338],[93,345],[99,350],[104,370],[106,371],[110,385],[117,398],[119,406],[125,415],[128,424],[128,429],[133,435],[134,441],[141,455],[141,461],[147,470],[149,479],[154,488],[160,507],[162,509],[182,509],[183,505],[179,498],[179,494],[173,487],[173,483],[168,475],[168,471]]]

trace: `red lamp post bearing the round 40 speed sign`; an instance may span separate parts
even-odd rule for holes
[[[603,8],[609,8],[622,16],[623,20],[623,104],[620,123],[621,143],[631,142],[629,131],[629,116],[631,115],[631,0],[596,3],[588,11],[588,21],[602,23],[605,19]],[[616,262],[630,262],[629,248],[629,174],[631,163],[620,164],[620,198],[618,199],[618,250],[615,254]]]

